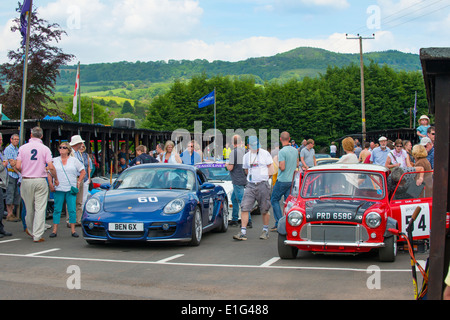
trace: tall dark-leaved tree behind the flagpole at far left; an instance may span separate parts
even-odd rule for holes
[[[19,12],[20,9],[17,9]],[[56,79],[59,77],[61,66],[74,58],[65,54],[55,43],[61,41],[64,30],[56,23],[49,23],[37,16],[33,10],[30,23],[30,54],[28,61],[27,95],[25,118],[42,118],[45,115],[59,115],[67,118],[65,114],[55,108],[48,108],[49,104],[56,105],[53,99]],[[20,31],[20,19],[14,20],[12,32]],[[0,103],[3,112],[11,119],[20,118],[22,102],[24,50],[19,48],[8,52],[10,63],[0,66],[0,83],[7,84],[6,90],[0,84]],[[3,91],[3,94],[2,94]]]

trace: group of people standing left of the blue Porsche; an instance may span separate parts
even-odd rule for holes
[[[43,234],[52,226],[46,223],[47,203],[50,192],[54,198],[53,229],[51,238],[57,236],[58,225],[64,203],[68,212],[67,226],[72,237],[79,237],[75,226],[81,225],[84,202],[91,175],[91,159],[86,153],[84,140],[72,136],[70,142],[59,145],[59,157],[53,157],[51,150],[42,141],[40,127],[31,129],[27,143],[19,147],[19,135],[11,136],[10,144],[0,152],[1,206],[6,203],[6,220],[22,221],[23,229],[34,242],[43,242]],[[3,137],[0,134],[0,143]],[[22,206],[20,206],[22,204]],[[21,212],[19,212],[22,207]],[[0,209],[3,213],[4,208]],[[0,219],[0,238],[11,236]]]

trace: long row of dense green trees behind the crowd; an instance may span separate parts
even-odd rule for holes
[[[365,67],[367,131],[409,126],[405,108],[414,105],[418,93],[419,112],[426,114],[427,100],[422,75],[417,71],[395,71],[376,63]],[[206,74],[190,81],[176,80],[170,89],[149,105],[144,127],[193,131],[194,121],[203,130],[214,127],[213,106],[199,109],[197,100],[216,89],[217,128],[287,130],[296,140],[313,138],[316,145],[347,134],[361,133],[360,69],[357,64],[328,67],[319,77],[270,81],[260,85],[252,76]]]

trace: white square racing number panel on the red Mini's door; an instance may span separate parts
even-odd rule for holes
[[[406,233],[406,227],[412,214],[417,207],[421,207],[421,211],[416,221],[414,221],[413,237],[422,237],[430,235],[430,205],[428,203],[417,203],[401,205],[400,211],[402,215],[402,232]]]

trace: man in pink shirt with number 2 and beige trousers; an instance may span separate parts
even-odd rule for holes
[[[31,129],[31,137],[28,143],[19,148],[16,160],[16,169],[22,174],[20,194],[27,209],[25,232],[33,237],[34,242],[42,242],[45,231],[45,214],[49,194],[46,180],[47,169],[55,179],[55,185],[59,182],[56,170],[52,162],[50,149],[42,142],[43,132],[39,127]]]

